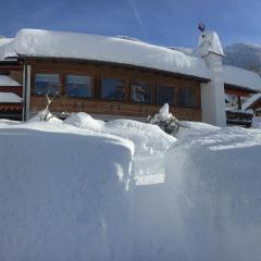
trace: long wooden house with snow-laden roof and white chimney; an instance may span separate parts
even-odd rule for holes
[[[1,66],[23,66],[24,119],[55,95],[53,113],[85,111],[96,117],[144,120],[167,102],[181,120],[224,126],[224,94],[256,94],[252,72],[224,66],[214,32],[202,32],[195,53],[126,37],[21,29],[0,44]]]

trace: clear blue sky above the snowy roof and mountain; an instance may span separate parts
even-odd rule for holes
[[[258,0],[0,0],[0,35],[44,28],[99,35],[128,35],[163,46],[192,47],[197,24],[220,35],[223,45],[261,44]]]

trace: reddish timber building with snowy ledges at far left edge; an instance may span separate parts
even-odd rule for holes
[[[9,76],[0,75],[0,117],[22,120],[22,86]]]

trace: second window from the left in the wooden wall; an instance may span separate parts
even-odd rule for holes
[[[67,97],[91,97],[91,78],[83,75],[66,75],[65,94]]]

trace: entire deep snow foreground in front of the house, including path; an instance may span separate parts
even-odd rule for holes
[[[182,124],[1,120],[0,260],[260,260],[261,129]]]

